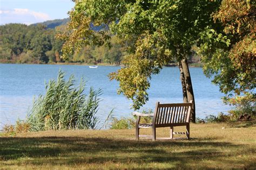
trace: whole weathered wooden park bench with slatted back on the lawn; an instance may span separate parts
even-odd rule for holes
[[[170,127],[170,137],[173,138],[173,134],[186,134],[187,139],[190,138],[190,116],[191,116],[192,101],[189,103],[172,103],[172,104],[160,104],[157,102],[156,110],[154,114],[140,114],[139,112],[133,112],[132,115],[138,116],[136,121],[136,140],[139,137],[152,137],[153,141],[156,140],[156,128]],[[153,116],[153,122],[151,124],[140,124],[140,117]],[[174,126],[186,126],[186,132],[173,132]],[[152,128],[152,136],[140,135],[139,129]]]

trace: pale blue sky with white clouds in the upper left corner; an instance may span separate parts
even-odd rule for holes
[[[71,0],[0,0],[0,25],[68,18],[74,5]]]

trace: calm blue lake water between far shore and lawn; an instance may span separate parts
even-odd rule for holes
[[[109,81],[107,74],[120,67],[78,65],[16,65],[0,64],[0,129],[4,124],[15,124],[18,118],[25,119],[26,112],[32,105],[33,96],[45,94],[45,82],[56,79],[58,70],[62,69],[66,77],[75,75],[77,80],[84,77],[86,90],[89,87],[103,90],[100,97],[98,117],[104,122],[106,116],[114,108],[116,117],[131,116],[130,104],[123,95],[117,95],[118,82]],[[194,96],[196,101],[196,116],[204,118],[207,115],[217,115],[218,112],[226,113],[231,109],[223,104],[221,97],[224,94],[219,88],[206,78],[201,68],[190,68]],[[85,93],[87,93],[85,91]],[[157,101],[160,103],[183,102],[179,69],[165,67],[160,74],[154,75],[149,90],[150,100],[142,109],[154,109]]]

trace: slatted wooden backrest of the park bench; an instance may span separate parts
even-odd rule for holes
[[[192,101],[189,103],[160,104],[157,102],[153,124],[168,126],[170,124],[190,123]]]

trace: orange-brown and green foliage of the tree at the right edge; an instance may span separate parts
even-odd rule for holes
[[[225,93],[226,103],[255,110],[255,1],[223,0],[213,14],[215,24],[201,33],[204,73]],[[220,27],[221,25],[221,27]],[[248,113],[248,112],[247,112]]]

